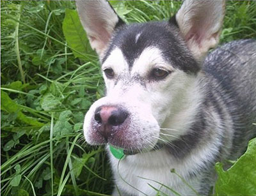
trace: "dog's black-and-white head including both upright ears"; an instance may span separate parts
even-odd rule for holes
[[[84,118],[86,141],[148,151],[161,142],[163,126],[178,130],[174,138],[184,134],[180,118],[194,115],[196,76],[218,44],[223,2],[185,1],[168,22],[131,25],[106,1],[76,4],[106,83],[106,96]]]

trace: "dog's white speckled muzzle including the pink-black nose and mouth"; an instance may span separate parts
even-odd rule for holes
[[[104,97],[93,103],[84,117],[88,144],[110,144],[134,153],[150,151],[156,145],[159,125],[148,105],[127,102],[116,103]]]

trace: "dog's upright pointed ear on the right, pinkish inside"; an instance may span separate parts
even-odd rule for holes
[[[220,40],[225,1],[184,1],[176,14],[180,32],[198,61]]]

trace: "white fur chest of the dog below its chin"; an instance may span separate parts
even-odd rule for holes
[[[175,195],[173,191],[181,195],[195,195],[195,192],[177,176],[177,174],[186,176],[190,169],[186,169],[183,164],[168,160],[164,154],[164,152],[157,152],[147,157],[143,155],[127,156],[120,161],[119,165],[119,160],[109,155],[115,182],[120,192],[129,195],[144,195],[143,193],[156,195],[157,191],[154,190],[156,188],[168,195]],[[175,169],[177,174],[171,172],[171,169]],[[200,186],[200,177],[198,176],[185,180],[194,188]]]

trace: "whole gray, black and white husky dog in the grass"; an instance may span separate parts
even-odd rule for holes
[[[113,195],[208,194],[214,163],[236,159],[255,137],[255,41],[207,55],[219,41],[224,1],[184,1],[169,21],[131,25],[107,1],[76,5],[106,83],[84,137],[127,155],[109,153]]]

